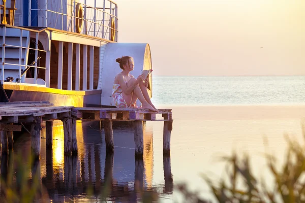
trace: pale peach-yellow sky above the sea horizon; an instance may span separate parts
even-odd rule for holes
[[[154,75],[305,75],[303,0],[114,0],[118,42],[148,43]]]

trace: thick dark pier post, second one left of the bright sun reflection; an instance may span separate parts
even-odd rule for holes
[[[40,130],[41,128],[42,116],[34,117],[34,122],[31,125],[31,135],[32,135],[32,153],[37,158],[40,156]]]

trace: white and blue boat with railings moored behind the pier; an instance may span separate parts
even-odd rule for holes
[[[111,0],[3,0],[0,101],[114,106],[115,59],[134,57],[135,77],[151,69],[148,44],[118,42],[117,14]]]

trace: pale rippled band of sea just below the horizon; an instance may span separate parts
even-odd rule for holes
[[[157,105],[304,104],[305,76],[154,77]]]

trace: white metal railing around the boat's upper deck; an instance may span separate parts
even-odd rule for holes
[[[38,21],[38,26],[52,27],[55,29],[79,32],[84,35],[103,38],[117,42],[118,18],[117,4],[111,0],[44,0],[44,5],[38,5],[39,9],[31,8],[31,2],[41,1],[29,0],[29,13],[37,13],[37,16],[28,18],[28,25],[33,26],[33,21]],[[87,3],[88,2],[88,3]],[[81,4],[83,16],[77,10]],[[40,19],[40,20],[38,20]],[[82,21],[83,26],[80,31],[77,30],[77,22]]]

